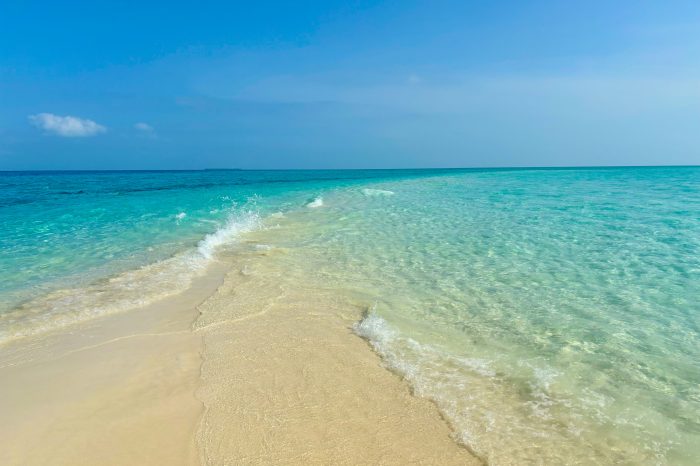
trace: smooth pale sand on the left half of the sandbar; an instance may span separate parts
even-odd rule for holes
[[[191,327],[217,285],[0,348],[0,464],[196,464]]]

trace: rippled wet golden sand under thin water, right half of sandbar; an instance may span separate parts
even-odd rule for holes
[[[284,263],[251,254],[200,307],[202,463],[478,464],[352,333],[364,309]]]

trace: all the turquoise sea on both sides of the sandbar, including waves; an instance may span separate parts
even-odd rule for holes
[[[276,216],[490,463],[696,464],[696,167],[0,174],[0,341],[177,293]]]

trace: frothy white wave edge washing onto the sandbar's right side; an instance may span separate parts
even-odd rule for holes
[[[526,402],[529,414],[505,405],[502,381],[492,361],[459,357],[421,343],[378,315],[376,305],[353,330],[416,395],[435,402],[454,428],[455,439],[489,464],[527,462],[534,441],[551,443],[551,449],[542,453],[547,462],[556,462],[557,457],[547,457],[556,453],[556,448],[566,452],[561,458],[577,450],[572,443],[578,444],[578,440],[562,437],[550,425],[550,410],[557,406],[545,389],[531,394],[532,399]]]

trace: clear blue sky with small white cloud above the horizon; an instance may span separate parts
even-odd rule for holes
[[[0,2],[0,170],[700,164],[700,2]]]

